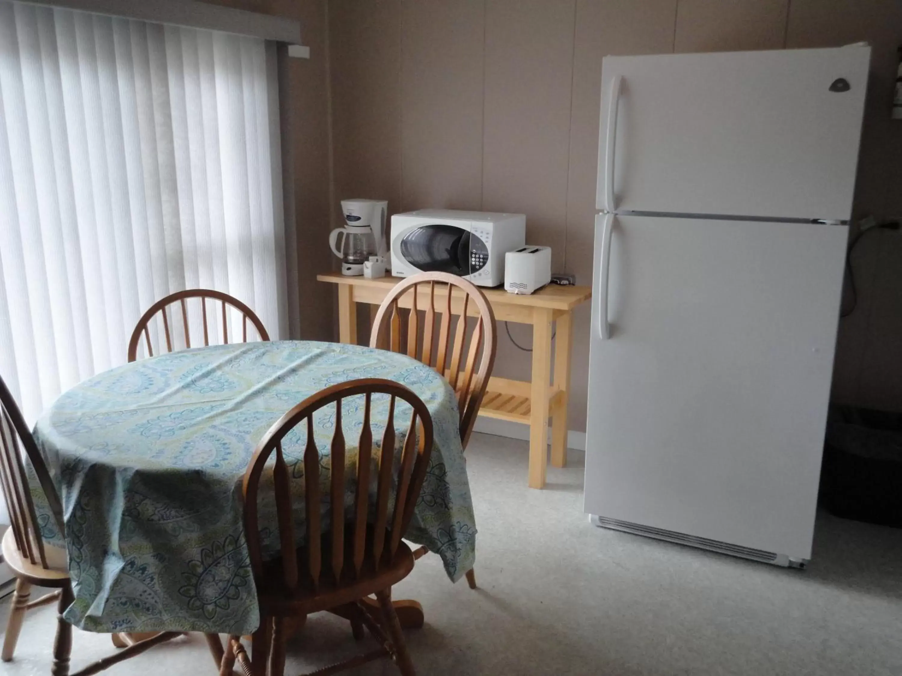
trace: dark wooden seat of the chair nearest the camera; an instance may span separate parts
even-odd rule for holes
[[[323,544],[326,550],[326,544]],[[345,570],[339,583],[332,571],[323,570],[319,578],[318,589],[310,584],[310,573],[307,565],[307,550],[298,550],[298,588],[292,593],[285,585],[281,559],[263,564],[262,584],[258,585],[261,610],[266,615],[290,616],[318,613],[321,610],[352,603],[359,598],[370,596],[377,591],[388,589],[400,582],[413,570],[414,558],[410,547],[403,541],[393,560],[383,563],[375,570],[372,560],[364,560],[360,576],[354,575],[349,550],[345,549]]]

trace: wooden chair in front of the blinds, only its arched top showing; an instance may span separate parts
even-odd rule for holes
[[[147,356],[153,356],[153,344],[151,340],[151,322],[155,315],[158,313],[161,315],[162,324],[163,324],[163,335],[166,338],[166,352],[173,352],[172,349],[172,333],[174,331],[170,331],[170,326],[174,329],[174,324],[170,321],[170,306],[179,303],[181,306],[181,325],[182,325],[182,336],[185,341],[185,348],[188,349],[191,347],[191,335],[189,331],[189,305],[188,300],[191,298],[199,298],[200,299],[200,315],[201,315],[201,324],[203,325],[203,336],[204,336],[204,345],[210,344],[211,333],[216,333],[217,324],[220,322],[221,316],[221,326],[222,326],[222,337],[223,343],[227,344],[228,340],[228,306],[234,307],[235,310],[241,313],[242,315],[242,330],[241,330],[241,343],[247,343],[247,324],[248,320],[253,324],[254,329],[260,340],[268,341],[270,339],[269,333],[266,333],[266,328],[263,326],[263,323],[260,321],[260,318],[253,313],[253,310],[245,306],[240,300],[235,297],[231,297],[228,294],[223,293],[222,291],[214,291],[209,288],[189,288],[185,291],[176,291],[174,294],[170,294],[167,297],[161,298],[156,303],[154,303],[150,309],[147,310],[143,315],[141,315],[141,319],[138,320],[138,324],[134,327],[134,331],[132,332],[132,339],[128,342],[128,361],[135,361],[138,358],[138,346],[141,343],[141,337],[144,337],[144,344],[147,348]],[[213,303],[213,311],[214,316],[212,318],[212,322],[215,324],[208,324],[207,322],[207,301]],[[221,304],[221,313],[216,313],[216,301],[219,301]],[[213,336],[216,339],[216,336]],[[233,343],[235,343],[235,336],[233,336]],[[198,344],[197,347],[200,345]],[[162,352],[162,345],[159,345],[158,353]]]

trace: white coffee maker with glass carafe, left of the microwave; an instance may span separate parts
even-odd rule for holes
[[[362,275],[364,263],[373,259],[386,269],[391,268],[385,243],[389,203],[378,199],[343,199],[341,208],[347,225],[329,233],[329,246],[341,259],[341,273]]]

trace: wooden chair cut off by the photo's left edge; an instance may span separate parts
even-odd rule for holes
[[[57,602],[57,631],[53,643],[53,676],[69,674],[69,653],[72,649],[72,626],[63,619],[63,611],[72,603],[72,587],[69,582],[69,571],[66,554],[58,547],[44,545],[38,528],[37,516],[32,502],[22,453],[19,443],[32,463],[47,502],[50,505],[53,519],[60,533],[65,533],[62,519],[60,496],[53,485],[51,475],[44,464],[41,452],[34,443],[32,434],[25,425],[19,407],[16,406],[12,394],[2,378],[0,378],[0,485],[10,517],[10,527],[3,536],[3,556],[10,571],[15,575],[15,593],[13,608],[6,623],[6,635],[3,644],[3,661],[13,659],[15,644],[19,640],[25,613],[34,607],[46,606]],[[29,600],[32,585],[56,588],[56,591]],[[123,650],[102,660],[94,662],[72,676],[88,676],[122,662],[148,648],[181,635],[180,632],[163,632],[142,641],[133,641],[127,635],[117,635],[118,641],[126,644]]]

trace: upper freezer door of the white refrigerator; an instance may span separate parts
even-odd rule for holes
[[[870,47],[606,57],[598,208],[848,220],[869,59]]]

